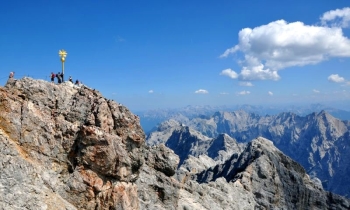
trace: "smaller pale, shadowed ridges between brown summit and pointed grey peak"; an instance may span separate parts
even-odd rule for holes
[[[244,147],[227,134],[208,138],[175,120],[161,123],[157,131],[148,136],[147,144],[165,144],[179,155],[180,164],[175,177],[180,182],[191,174],[225,162],[233,154],[238,155]]]

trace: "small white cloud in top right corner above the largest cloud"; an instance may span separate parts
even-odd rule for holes
[[[350,25],[350,7],[325,12],[320,18],[323,25],[347,28]]]

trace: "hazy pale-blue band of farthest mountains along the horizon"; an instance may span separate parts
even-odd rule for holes
[[[243,110],[248,113],[256,113],[261,116],[276,115],[282,112],[292,112],[297,115],[306,116],[312,112],[327,111],[334,117],[341,120],[350,120],[350,110],[334,108],[323,104],[311,105],[286,105],[286,106],[255,106],[255,105],[235,105],[235,106],[186,106],[177,109],[157,109],[143,112],[135,112],[141,121],[141,126],[150,133],[159,123],[169,119],[184,121],[186,118],[205,117],[217,111],[238,111]]]

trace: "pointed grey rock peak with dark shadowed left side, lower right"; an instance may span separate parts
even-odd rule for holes
[[[254,194],[263,209],[350,208],[348,201],[335,202],[341,197],[324,192],[300,164],[261,137],[250,142],[237,159],[203,171],[197,180],[209,182],[222,177]]]

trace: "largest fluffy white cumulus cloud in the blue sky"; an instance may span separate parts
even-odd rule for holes
[[[327,14],[321,20],[334,17],[347,20],[350,10],[345,8]],[[343,35],[341,27],[277,20],[244,28],[238,36],[238,44],[220,57],[237,51],[243,53],[242,69],[236,75],[241,80],[278,80],[278,71],[287,67],[317,64],[332,57],[350,57],[350,39]]]

